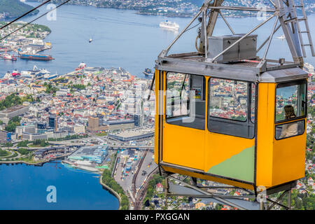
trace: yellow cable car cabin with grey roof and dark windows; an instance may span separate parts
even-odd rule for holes
[[[207,64],[197,53],[155,65],[155,162],[165,172],[240,188],[304,177],[307,73],[298,64]]]

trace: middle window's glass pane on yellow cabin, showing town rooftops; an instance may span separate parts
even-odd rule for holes
[[[209,115],[246,121],[248,84],[235,80],[211,78],[210,85]]]

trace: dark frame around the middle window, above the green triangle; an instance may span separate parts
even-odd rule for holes
[[[216,79],[221,79],[221,80],[234,80],[234,81],[239,81],[239,82],[244,82],[244,83],[248,83],[247,85],[247,113],[246,113],[246,120],[245,121],[241,121],[241,120],[235,120],[235,119],[229,119],[229,118],[218,118],[215,116],[210,116],[209,110],[210,110],[210,91],[211,91],[211,78],[216,78]],[[257,105],[257,100],[258,100],[258,83],[254,83],[251,81],[246,81],[246,80],[235,80],[235,79],[228,79],[228,78],[217,78],[217,77],[210,77],[208,80],[208,105],[207,105],[207,111],[208,111],[208,116],[207,116],[207,130],[211,133],[216,133],[216,134],[224,134],[224,135],[228,135],[228,136],[232,136],[232,137],[239,137],[239,138],[243,138],[243,139],[255,139],[255,125],[256,122],[255,120],[257,119],[257,111],[255,110],[255,120],[252,121],[251,120],[251,99],[249,97],[251,97],[251,85],[255,85],[255,105],[254,108],[256,109],[256,105]],[[210,126],[210,122],[209,122],[209,118],[214,118],[214,120],[222,120],[225,123],[230,123],[230,124],[235,124],[235,125],[241,125],[241,126],[246,126],[246,127],[253,127],[253,137],[241,137],[239,135],[235,135],[235,134],[226,134],[226,133],[222,133],[222,132],[214,132],[212,130],[210,130],[209,126]],[[245,125],[246,124],[246,125]]]

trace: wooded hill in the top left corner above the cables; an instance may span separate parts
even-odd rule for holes
[[[6,18],[17,18],[32,8],[32,6],[22,3],[20,0],[0,0],[0,15],[5,13]],[[39,10],[34,10],[34,12],[29,15],[35,15],[38,12]]]

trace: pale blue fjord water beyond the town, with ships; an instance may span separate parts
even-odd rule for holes
[[[27,3],[31,6],[38,5],[38,2],[34,1],[27,1]],[[47,9],[43,7],[38,15],[45,12]],[[33,20],[38,15],[27,17],[23,21]],[[181,31],[191,19],[139,15],[135,10],[64,5],[57,8],[56,20],[48,20],[44,16],[36,21],[38,24],[47,25],[52,30],[45,39],[52,43],[52,49],[41,53],[52,55],[55,59],[50,62],[22,59],[18,59],[18,62],[0,60],[0,76],[13,69],[19,71],[32,69],[34,65],[48,69],[51,73],[62,74],[73,71],[80,62],[85,62],[87,66],[123,67],[132,75],[143,77],[142,71],[146,68],[153,69],[158,54],[179,34],[160,28],[160,22],[165,20],[177,22]],[[255,17],[228,18],[228,21],[239,34],[246,33],[262,22]],[[309,15],[309,25],[311,26],[314,22],[315,15]],[[258,46],[269,36],[273,23],[274,20],[271,20],[255,31],[254,34],[258,34]],[[315,29],[312,29],[311,33],[315,36]],[[222,34],[230,34],[230,31],[219,18],[214,35]],[[274,35],[269,56],[274,59],[285,57],[287,60],[292,60],[286,41],[276,38],[282,34],[280,29]],[[196,29],[186,32],[170,53],[195,51],[196,36]],[[90,38],[93,39],[92,43],[89,43]],[[264,48],[259,52],[260,56],[263,50]],[[309,52],[308,49],[307,52]],[[315,64],[314,58],[309,57],[306,61]]]

